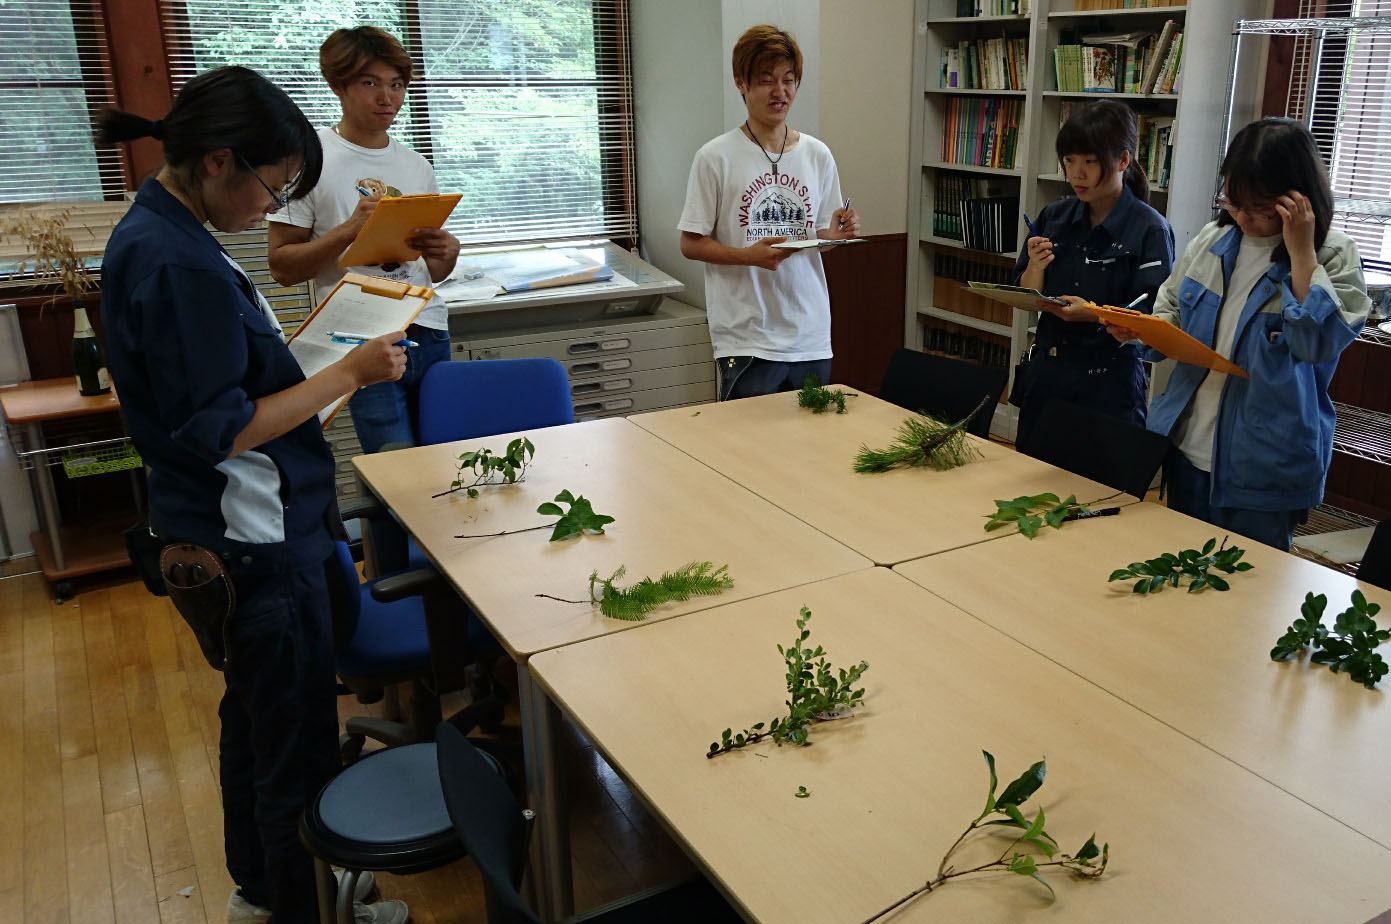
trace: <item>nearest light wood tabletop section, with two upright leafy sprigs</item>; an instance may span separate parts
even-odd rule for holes
[[[779,714],[775,644],[796,637],[804,604],[810,644],[837,667],[869,662],[864,708],[814,728],[810,747],[707,760],[723,728]],[[1391,850],[887,569],[529,667],[750,920],[855,924],[921,885],[985,803],[982,749],[1002,790],[1046,757],[1025,810],[1043,806],[1070,853],[1095,831],[1110,868],[1099,881],[1045,871],[1052,903],[1024,877],[965,877],[885,921],[1360,923],[1391,907]],[[972,835],[953,863],[1008,843]]]

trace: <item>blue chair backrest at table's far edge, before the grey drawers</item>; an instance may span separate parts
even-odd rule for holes
[[[424,445],[574,423],[565,366],[542,358],[435,363],[419,413]]]

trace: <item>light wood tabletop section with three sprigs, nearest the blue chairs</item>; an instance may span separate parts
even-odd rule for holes
[[[488,623],[513,658],[632,629],[590,605],[590,572],[619,565],[629,586],[693,561],[729,565],[734,586],[716,597],[665,604],[647,621],[705,610],[869,568],[861,555],[623,419],[533,430],[536,459],[517,484],[433,498],[449,487],[460,452],[502,452],[502,434],[396,452],[359,455],[359,476]],[[551,543],[549,529],[455,539],[554,523],[536,512],[561,490],[615,518],[602,536]],[[583,604],[537,597],[551,594]]]

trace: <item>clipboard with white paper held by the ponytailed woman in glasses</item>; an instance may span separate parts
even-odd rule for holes
[[[406,330],[434,298],[434,289],[384,280],[362,273],[345,273],[305,323],[289,338],[289,352],[309,379],[348,355],[356,344],[335,342],[335,330],[363,331],[374,337]],[[319,412],[328,426],[349,398],[341,395]]]

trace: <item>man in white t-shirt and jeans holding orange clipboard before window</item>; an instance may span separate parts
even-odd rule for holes
[[[342,118],[319,129],[324,171],[303,199],[270,216],[270,271],[281,285],[314,281],[324,298],[344,273],[367,273],[430,287],[445,280],[459,256],[459,241],[442,228],[416,228],[408,244],[420,250],[410,263],[338,266],[383,196],[438,192],[434,167],[387,135],[406,99],[413,65],[388,32],[374,26],[338,29],[319,49],[319,67],[342,103]],[[370,331],[369,331],[370,333]],[[420,380],[449,359],[449,319],[438,295],[408,328],[417,345],[406,351],[399,381],[359,388],[349,399],[363,452],[388,443],[415,444]]]

